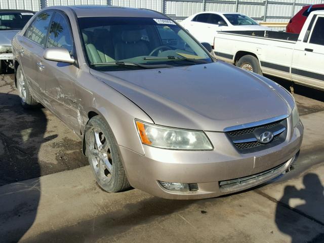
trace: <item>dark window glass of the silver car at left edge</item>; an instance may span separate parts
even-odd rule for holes
[[[33,15],[30,12],[0,12],[0,30],[22,29]]]

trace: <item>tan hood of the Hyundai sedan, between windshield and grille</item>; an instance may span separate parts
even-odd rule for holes
[[[223,131],[291,112],[286,99],[269,84],[222,61],[91,73],[164,126]]]

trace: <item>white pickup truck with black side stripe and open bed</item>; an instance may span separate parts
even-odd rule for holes
[[[324,90],[324,11],[312,12],[299,35],[220,31],[214,48],[218,59],[238,67]]]

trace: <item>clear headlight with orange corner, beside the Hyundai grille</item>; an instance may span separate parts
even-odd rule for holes
[[[173,129],[136,120],[143,144],[179,150],[212,150],[213,145],[203,131]]]

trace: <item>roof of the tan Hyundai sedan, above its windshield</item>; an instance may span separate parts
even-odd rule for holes
[[[166,18],[165,15],[148,9],[125,8],[105,5],[55,6],[47,9],[74,11],[77,17],[150,17]]]

